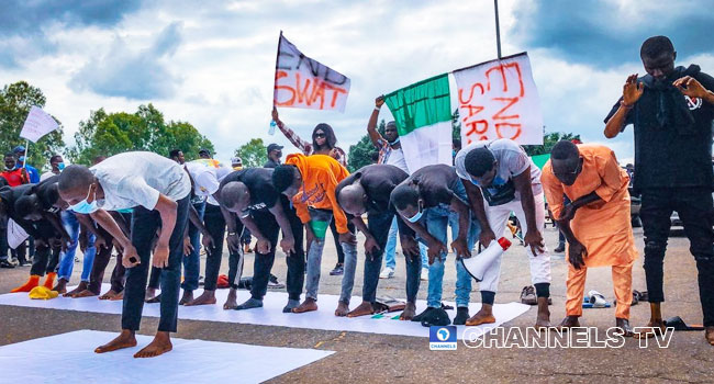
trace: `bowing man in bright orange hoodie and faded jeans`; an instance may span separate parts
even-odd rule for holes
[[[339,242],[345,252],[345,271],[342,279],[342,293],[335,316],[346,316],[357,268],[357,239],[354,228],[348,227],[347,216],[339,207],[335,189],[349,172],[334,158],[326,155],[289,155],[282,166],[272,173],[272,184],[279,193],[292,200],[295,213],[305,226],[308,238],[308,280],[305,301],[293,313],[317,309],[317,289],[320,286],[320,264],[325,246],[325,233],[330,222],[335,219]]]

